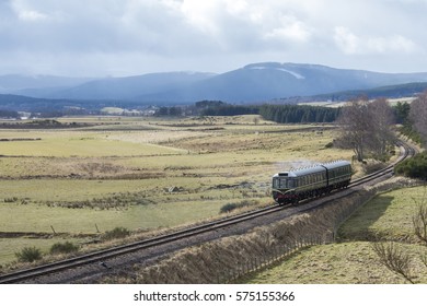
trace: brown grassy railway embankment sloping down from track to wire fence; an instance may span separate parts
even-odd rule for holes
[[[135,263],[95,282],[108,283],[228,283],[278,263],[311,245],[332,244],[339,226],[378,193],[416,186],[416,180],[393,177],[359,188],[315,209],[308,209],[246,234],[182,249],[149,267]]]

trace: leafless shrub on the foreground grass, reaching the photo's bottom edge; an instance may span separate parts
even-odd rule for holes
[[[411,257],[402,248],[394,243],[373,243],[372,249],[390,271],[414,283],[411,278]]]

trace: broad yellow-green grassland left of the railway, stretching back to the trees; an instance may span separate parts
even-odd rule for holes
[[[1,233],[147,231],[218,217],[227,203],[270,204],[279,170],[353,155],[326,148],[332,127],[255,125],[254,116],[58,122],[0,129]],[[22,246],[5,240],[0,264]]]

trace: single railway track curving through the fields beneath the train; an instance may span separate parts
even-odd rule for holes
[[[407,145],[404,142],[400,142],[400,143],[397,143],[397,145],[401,148],[401,156],[397,158],[397,161],[395,163],[391,164],[390,166],[388,166],[384,169],[372,173],[372,174],[367,175],[362,178],[355,179],[349,185],[349,188],[354,188],[354,187],[357,187],[357,186],[360,186],[363,184],[368,184],[369,181],[379,179],[381,177],[386,177],[386,176],[392,175],[393,167],[396,163],[399,163],[403,160],[406,160],[408,157],[412,157],[416,154],[415,149]],[[333,193],[337,193],[337,192],[339,192],[339,191],[336,191]],[[304,200],[302,202],[309,202],[309,201],[311,201],[311,199]],[[140,240],[140,242],[135,242],[135,243],[130,243],[130,244],[126,244],[126,245],[122,245],[122,246],[116,246],[116,247],[112,247],[108,249],[99,250],[99,251],[81,255],[78,257],[73,257],[70,259],[60,260],[60,261],[56,261],[56,262],[51,262],[51,263],[46,263],[46,264],[42,264],[38,267],[25,269],[25,270],[14,271],[11,273],[0,275],[0,284],[20,283],[20,282],[33,280],[33,279],[36,279],[39,276],[58,273],[58,272],[61,272],[61,271],[65,271],[68,269],[81,267],[84,264],[91,264],[91,263],[95,263],[95,262],[104,262],[107,259],[115,258],[118,256],[124,256],[127,254],[131,254],[131,252],[141,250],[141,249],[148,249],[151,247],[161,246],[161,245],[164,245],[168,243],[177,242],[180,239],[196,236],[196,235],[204,234],[204,233],[207,233],[210,231],[217,231],[219,228],[224,228],[227,226],[230,226],[230,225],[233,225],[236,223],[242,223],[242,222],[245,222],[249,220],[254,220],[256,217],[259,217],[259,216],[263,216],[266,214],[270,214],[270,213],[275,213],[277,211],[285,210],[288,207],[289,205],[267,207],[267,208],[258,209],[255,211],[242,213],[242,214],[239,214],[235,216],[230,216],[227,219],[222,219],[222,220],[218,220],[215,222],[209,222],[209,223],[197,225],[197,226],[194,226],[191,228],[174,232],[172,234],[166,234],[166,235],[149,238],[146,240]],[[305,209],[305,211],[312,210],[315,207],[308,208],[308,209]]]

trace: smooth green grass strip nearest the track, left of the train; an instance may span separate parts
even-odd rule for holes
[[[129,205],[123,209],[69,209],[45,204],[0,204],[0,232],[96,234],[116,226],[157,229],[217,216],[221,202],[174,202]],[[191,213],[189,213],[191,212]],[[96,226],[95,226],[96,225]]]

